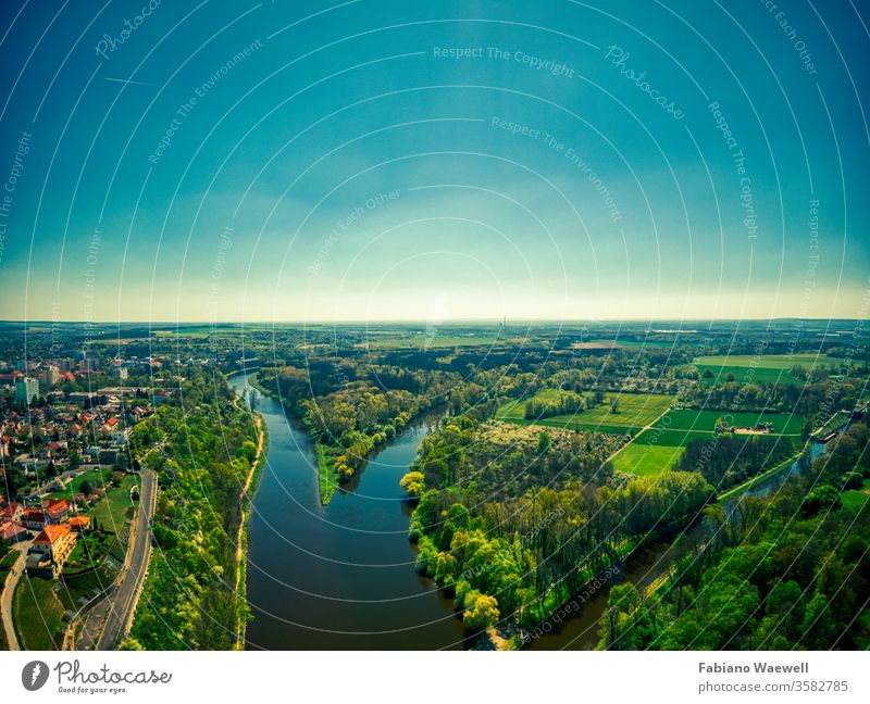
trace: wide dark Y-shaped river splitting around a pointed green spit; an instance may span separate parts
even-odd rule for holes
[[[269,430],[251,503],[247,648],[435,650],[463,648],[452,601],[414,570],[410,510],[399,479],[432,418],[374,455],[327,506],[318,493],[313,443],[281,404],[229,378]]]

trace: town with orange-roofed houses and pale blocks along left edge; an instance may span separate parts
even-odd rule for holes
[[[48,356],[46,345],[30,359],[0,360],[0,633],[9,646],[25,646],[13,623],[44,609],[40,589],[64,582],[69,617],[117,587],[129,567],[149,451],[134,429],[177,398],[185,377],[170,355],[103,352],[110,349]],[[18,588],[24,575],[30,589]],[[38,648],[41,633],[33,640],[26,645]]]

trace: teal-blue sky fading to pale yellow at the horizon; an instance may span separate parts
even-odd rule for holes
[[[867,313],[848,2],[148,4],[0,10],[0,318]]]

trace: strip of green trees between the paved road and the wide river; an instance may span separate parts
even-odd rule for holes
[[[160,406],[138,430],[165,448],[144,456],[160,493],[156,546],[130,637],[150,650],[228,650],[247,609],[236,592],[236,535],[256,428],[222,377],[199,368],[185,374],[183,401]]]

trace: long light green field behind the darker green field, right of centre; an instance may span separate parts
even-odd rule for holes
[[[547,390],[544,393],[558,391]],[[618,412],[610,412],[610,404],[617,399]],[[592,430],[597,432],[637,432],[644,426],[652,423],[660,416],[673,401],[673,397],[660,393],[608,393],[605,402],[594,408],[581,411],[573,415],[552,416],[542,420],[526,420],[523,418],[524,401],[512,401],[501,406],[496,413],[500,420],[511,423],[526,423],[568,430]]]

